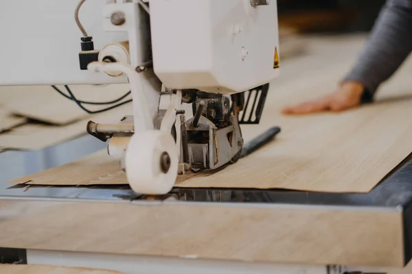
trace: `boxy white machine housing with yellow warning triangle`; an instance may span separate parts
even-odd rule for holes
[[[242,91],[271,82],[277,3],[150,0],[153,64],[168,88]]]

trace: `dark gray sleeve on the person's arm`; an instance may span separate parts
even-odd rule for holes
[[[373,97],[411,51],[412,0],[388,0],[354,68],[343,81],[361,82],[368,97]]]

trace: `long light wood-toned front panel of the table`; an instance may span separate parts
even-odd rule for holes
[[[11,200],[0,200],[0,209],[1,247],[247,262],[404,264],[400,211]]]

